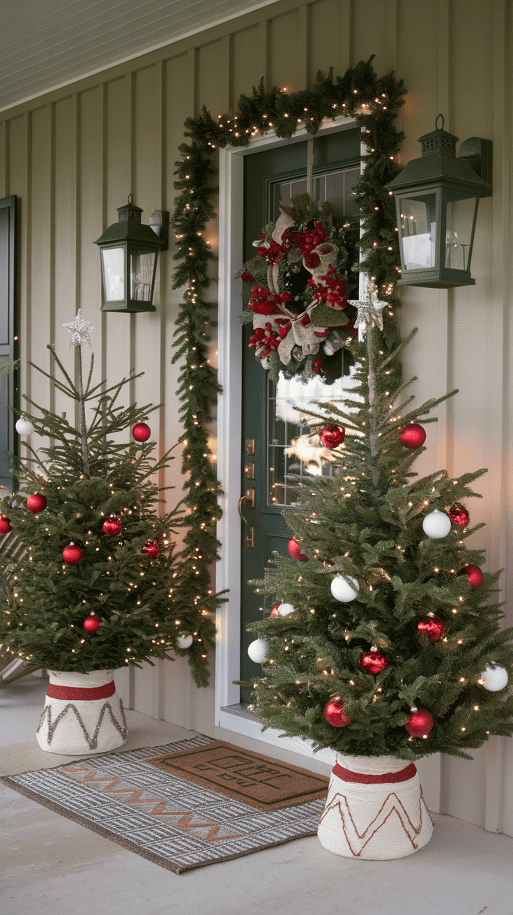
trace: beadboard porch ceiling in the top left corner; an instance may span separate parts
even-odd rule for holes
[[[274,0],[0,0],[0,111]]]

